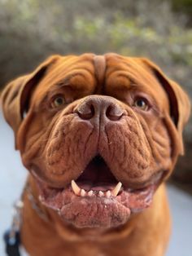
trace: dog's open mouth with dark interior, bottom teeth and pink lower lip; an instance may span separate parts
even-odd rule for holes
[[[64,188],[52,188],[39,179],[37,183],[41,202],[57,210],[64,222],[79,228],[111,228],[151,205],[160,177],[141,188],[125,188],[97,156]]]

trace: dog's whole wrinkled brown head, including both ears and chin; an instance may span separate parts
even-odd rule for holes
[[[116,227],[151,205],[190,109],[155,64],[115,54],[53,56],[2,105],[41,201],[76,227]]]

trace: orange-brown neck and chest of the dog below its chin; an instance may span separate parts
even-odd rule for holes
[[[33,195],[38,200],[38,190],[33,177],[29,178],[29,183]],[[76,228],[64,223],[55,210],[50,210],[40,202],[39,206],[49,216],[48,222],[41,219],[33,210],[28,196],[24,195],[24,221],[21,236],[24,247],[31,256],[63,255],[63,251],[65,255],[115,256],[118,254],[125,256],[129,254],[132,256],[135,255],[136,248],[137,255],[164,255],[170,232],[164,184],[160,185],[155,192],[150,208],[133,214],[127,223],[116,228]],[[135,233],[141,238],[139,243]],[[41,239],[39,239],[40,236]],[[50,245],[49,249],[47,244]],[[148,248],[148,254],[145,250],[143,252],[143,247]]]

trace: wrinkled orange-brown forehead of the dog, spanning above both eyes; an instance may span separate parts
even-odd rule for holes
[[[155,98],[159,106],[169,108],[163,86],[140,58],[116,54],[61,57],[48,69],[33,98],[41,99],[59,86],[70,86],[83,95],[111,95],[117,99],[122,99],[129,90],[138,90]]]

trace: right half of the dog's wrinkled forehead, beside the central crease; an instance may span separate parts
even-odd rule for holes
[[[126,90],[134,90],[151,95],[159,106],[169,109],[168,95],[155,77],[150,66],[140,58],[116,55],[108,57],[106,87],[110,94],[117,91],[124,94]]]

